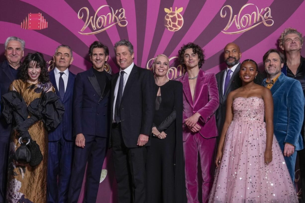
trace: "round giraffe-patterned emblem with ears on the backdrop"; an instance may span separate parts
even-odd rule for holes
[[[177,7],[175,8],[175,11],[172,10],[172,7],[170,9],[165,8],[164,11],[167,12],[166,16],[164,17],[164,26],[169,31],[178,31],[183,26],[183,17],[181,16],[180,12],[182,12],[183,8],[179,8],[177,10]]]

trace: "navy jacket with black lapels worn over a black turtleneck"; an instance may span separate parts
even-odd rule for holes
[[[75,134],[108,137],[110,80],[111,75],[106,73],[108,85],[101,90],[93,73],[93,67],[76,75],[73,91]]]

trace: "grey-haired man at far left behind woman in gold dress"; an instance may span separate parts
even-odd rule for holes
[[[4,43],[5,60],[0,68],[1,96],[9,91],[12,82],[18,79],[20,60],[23,57],[24,40],[18,37],[8,37]],[[1,104],[3,105],[3,104]],[[3,106],[2,106],[3,107]],[[1,108],[2,110],[3,108]],[[1,111],[2,113],[2,111]],[[0,203],[5,202],[7,162],[9,153],[9,137],[12,126],[0,117]]]

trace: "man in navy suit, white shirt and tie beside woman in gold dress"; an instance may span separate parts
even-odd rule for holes
[[[72,50],[67,45],[59,45],[53,58],[56,67],[49,72],[49,77],[65,112],[57,128],[48,132],[47,201],[65,203],[68,201],[74,149],[72,104],[75,75],[68,69],[73,62]]]

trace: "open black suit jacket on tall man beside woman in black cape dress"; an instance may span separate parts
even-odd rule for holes
[[[113,119],[114,88],[118,77],[119,73],[115,74],[111,80],[111,122]],[[123,140],[128,148],[138,147],[137,142],[140,134],[151,135],[156,102],[154,85],[155,80],[152,72],[136,65],[133,66],[124,88],[120,106]],[[150,140],[145,146],[149,145]],[[111,147],[111,138],[109,146]]]

